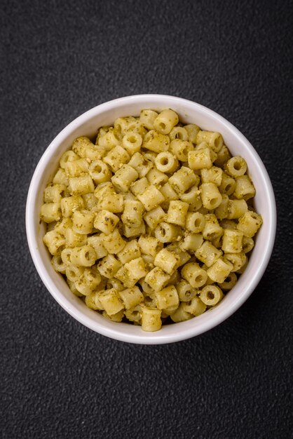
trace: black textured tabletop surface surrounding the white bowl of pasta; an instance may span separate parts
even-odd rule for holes
[[[289,438],[292,26],[289,1],[1,1],[1,438]],[[95,105],[177,95],[231,121],[273,183],[273,257],[210,332],[135,346],[50,296],[25,202],[39,158]]]

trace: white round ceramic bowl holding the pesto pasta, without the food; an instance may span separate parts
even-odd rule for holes
[[[248,170],[257,189],[255,207],[264,224],[257,235],[247,269],[236,286],[214,309],[186,322],[165,325],[158,332],[144,332],[139,326],[114,323],[92,311],[74,296],[62,276],[53,270],[50,255],[42,238],[45,227],[40,224],[39,212],[43,189],[50,182],[62,153],[71,147],[76,137],[93,136],[100,126],[111,125],[120,116],[139,116],[142,109],[172,108],[184,123],[196,123],[204,130],[219,131],[233,156],[245,158]],[[178,342],[201,334],[219,325],[231,316],[250,296],[263,276],[271,257],[275,240],[276,209],[271,181],[259,155],[250,142],[222,116],[200,104],[166,95],[135,95],[105,102],[82,114],[61,131],[44,152],[32,177],[27,196],[27,240],[32,259],[43,283],[57,302],[76,320],[102,335],[123,342],[137,344],[163,344]]]

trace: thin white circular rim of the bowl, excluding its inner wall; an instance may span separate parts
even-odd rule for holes
[[[233,303],[233,306],[229,306],[226,309],[222,310],[217,316],[214,316],[212,319],[207,319],[205,322],[202,322],[199,327],[191,326],[187,327],[184,332],[174,332],[172,334],[162,334],[161,331],[158,332],[141,332],[139,335],[134,334],[125,334],[124,332],[119,332],[118,325],[117,330],[109,329],[109,327],[105,327],[100,325],[100,323],[95,322],[95,324],[90,320],[87,316],[85,316],[81,311],[76,309],[66,297],[64,297],[59,290],[55,287],[53,281],[48,275],[48,271],[41,261],[41,257],[38,255],[38,244],[36,241],[36,233],[34,229],[34,215],[33,208],[31,206],[34,205],[34,200],[36,198],[36,193],[39,187],[39,182],[41,181],[41,175],[43,173],[44,168],[46,167],[47,157],[50,156],[51,151],[55,150],[55,147],[58,144],[61,144],[66,137],[71,133],[74,128],[80,126],[82,123],[86,122],[88,119],[92,118],[97,114],[101,114],[117,105],[119,107],[123,107],[123,104],[130,104],[131,102],[139,103],[140,101],[144,101],[145,104],[147,102],[152,102],[154,100],[158,100],[158,105],[160,105],[160,100],[172,100],[172,102],[182,103],[182,104],[192,104],[193,107],[197,107],[197,109],[203,113],[208,114],[210,116],[218,119],[229,131],[233,131],[234,135],[246,144],[246,147],[250,150],[250,154],[252,154],[257,162],[257,166],[261,171],[261,174],[264,178],[266,184],[266,194],[268,197],[268,219],[269,219],[269,229],[268,229],[268,239],[264,243],[264,257],[261,259],[258,270],[254,274],[252,280],[250,281],[250,285],[247,288],[245,294],[240,295],[238,299]],[[87,112],[84,112],[80,116],[76,117],[74,121],[71,121],[67,126],[65,126],[57,136],[54,137],[52,142],[48,145],[46,150],[43,152],[39,163],[37,164],[34,174],[32,176],[32,180],[29,184],[29,191],[27,194],[27,204],[25,211],[25,225],[27,231],[27,242],[29,245],[29,251],[31,253],[34,265],[36,270],[41,277],[44,285],[50,292],[50,294],[54,297],[56,302],[62,306],[62,308],[67,311],[72,317],[82,323],[86,327],[91,330],[98,332],[101,335],[106,337],[110,337],[112,339],[119,340],[121,342],[129,342],[133,344],[166,344],[172,342],[179,342],[184,339],[189,339],[191,337],[195,337],[196,335],[200,335],[207,330],[212,329],[222,323],[226,318],[229,318],[238,308],[247,300],[248,297],[252,294],[253,290],[257,287],[257,284],[261,280],[261,277],[264,275],[264,271],[266,270],[266,266],[268,265],[269,259],[271,258],[271,253],[273,251],[273,245],[275,242],[275,231],[276,231],[276,205],[275,205],[275,196],[273,193],[273,186],[271,184],[270,177],[268,176],[268,172],[264,166],[264,163],[261,161],[261,158],[257,151],[252,147],[252,144],[247,140],[247,138],[240,133],[238,128],[233,126],[232,123],[224,119],[223,116],[214,112],[212,109],[209,109],[202,104],[198,104],[197,102],[193,102],[191,100],[186,100],[182,97],[172,96],[172,95],[161,95],[161,94],[141,94],[141,95],[130,95],[125,97],[119,97],[114,100],[110,100],[108,102],[104,102],[99,104]]]

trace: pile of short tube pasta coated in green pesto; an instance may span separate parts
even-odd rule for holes
[[[220,133],[145,109],[64,152],[44,191],[43,241],[90,309],[156,331],[236,284],[262,223],[254,195]]]

